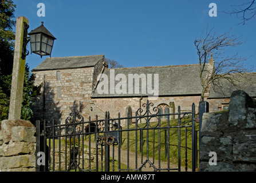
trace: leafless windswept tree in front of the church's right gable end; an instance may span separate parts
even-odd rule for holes
[[[237,47],[242,43],[242,38],[230,34],[230,30],[219,35],[213,28],[208,31],[208,27],[205,34],[202,33],[195,39],[194,45],[198,52],[200,79],[203,86],[201,101],[204,100],[204,94],[210,90],[211,84],[221,87],[219,79],[226,79],[236,86],[233,74],[242,75],[251,71],[245,64],[249,57],[239,57],[238,54],[225,56],[225,49]]]

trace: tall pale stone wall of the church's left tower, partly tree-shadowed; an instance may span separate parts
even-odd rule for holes
[[[34,71],[36,85],[43,83],[41,96],[37,98],[33,107],[35,120],[63,119],[74,109],[81,110],[89,105],[94,69],[94,67],[85,67]]]

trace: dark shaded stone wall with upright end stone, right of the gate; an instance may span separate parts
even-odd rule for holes
[[[199,152],[199,171],[255,171],[256,100],[238,90],[229,112],[204,113]]]

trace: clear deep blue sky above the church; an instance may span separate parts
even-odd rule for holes
[[[256,54],[256,19],[248,25],[235,15],[218,12],[210,17],[210,3],[218,11],[231,11],[232,5],[249,0],[13,0],[15,18],[29,19],[29,31],[44,21],[57,38],[52,57],[104,54],[124,67],[164,66],[198,63],[194,46],[206,27],[214,26],[220,34],[242,36],[243,45],[230,50],[246,57]],[[38,3],[45,4],[45,17],[38,17]],[[14,27],[15,31],[15,27]],[[28,47],[30,51],[30,46]],[[46,57],[29,54],[30,69]],[[256,55],[247,60],[256,67]]]

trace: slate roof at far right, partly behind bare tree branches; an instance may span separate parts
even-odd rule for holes
[[[238,74],[233,74],[236,79],[236,85],[232,85],[227,79],[220,79],[218,86],[212,86],[210,96],[208,98],[230,98],[231,93],[235,90],[243,90],[250,97],[256,97],[256,73],[245,73],[243,77]]]

